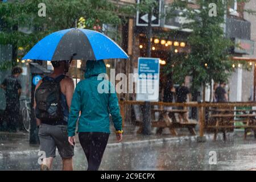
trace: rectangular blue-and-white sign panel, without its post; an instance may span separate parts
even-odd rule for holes
[[[138,78],[136,82],[137,101],[158,101],[159,69],[159,58],[138,58]]]

